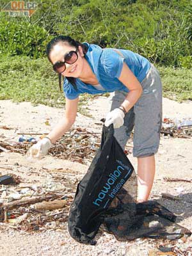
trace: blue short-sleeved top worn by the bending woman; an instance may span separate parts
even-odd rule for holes
[[[76,78],[76,90],[72,84],[65,79],[63,82],[63,92],[67,99],[76,99],[79,94],[82,93],[98,94],[120,90],[129,92],[129,89],[118,79],[118,77],[120,77],[124,61],[140,83],[146,77],[150,68],[150,62],[146,58],[132,51],[116,49],[123,54],[124,57],[122,57],[114,51],[114,49],[102,49],[99,45],[88,43],[83,44],[88,45],[88,52],[86,53],[85,58],[104,90],[99,90],[92,86],[92,84],[83,83],[78,78]]]

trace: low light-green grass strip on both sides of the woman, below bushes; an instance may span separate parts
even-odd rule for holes
[[[174,100],[192,99],[192,71],[183,68],[158,67],[163,81],[163,95]],[[52,71],[47,58],[31,60],[28,56],[1,56],[0,99],[14,102],[30,101],[58,108],[65,106],[58,77]],[[92,99],[84,94],[80,98],[79,111]],[[86,109],[83,108],[83,113]]]

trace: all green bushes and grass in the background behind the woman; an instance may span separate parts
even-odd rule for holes
[[[58,79],[45,58],[45,45],[61,34],[138,52],[158,65],[164,96],[192,98],[191,1],[36,2],[38,9],[30,19],[0,12],[0,99],[65,104]],[[88,97],[81,97],[82,102]]]

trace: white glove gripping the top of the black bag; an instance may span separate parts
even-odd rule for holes
[[[119,128],[124,124],[124,117],[124,111],[122,111],[122,109],[115,108],[106,115],[105,125],[108,127],[110,124],[113,124],[115,129]]]

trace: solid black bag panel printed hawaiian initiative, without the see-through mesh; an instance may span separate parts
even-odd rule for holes
[[[95,243],[93,238],[100,227],[100,214],[108,209],[134,170],[113,133],[113,125],[103,127],[100,148],[77,185],[70,208],[68,230],[80,243]]]

